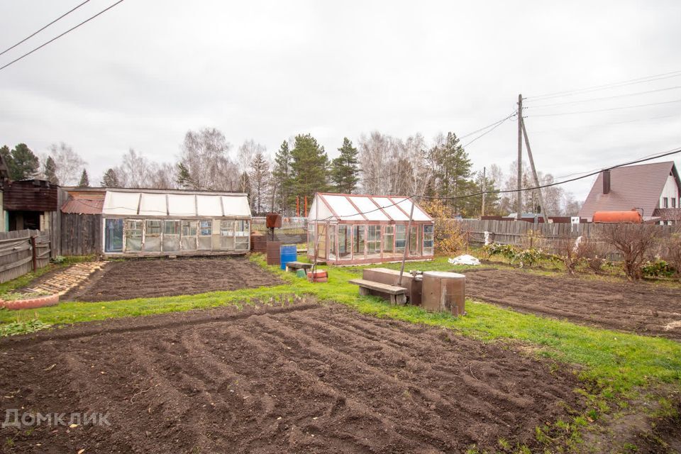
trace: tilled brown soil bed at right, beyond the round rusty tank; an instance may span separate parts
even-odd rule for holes
[[[466,272],[466,295],[532,314],[681,340],[681,289],[488,269]]]

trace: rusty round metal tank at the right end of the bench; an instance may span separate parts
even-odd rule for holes
[[[466,277],[456,272],[423,272],[423,309],[450,312],[453,316],[465,314]]]

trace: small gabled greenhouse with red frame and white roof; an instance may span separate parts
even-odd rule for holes
[[[433,258],[435,222],[405,196],[317,193],[308,216],[307,255],[334,265]],[[409,237],[409,241],[407,241]],[[316,248],[315,248],[316,245]]]

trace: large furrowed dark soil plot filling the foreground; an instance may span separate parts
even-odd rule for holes
[[[572,372],[508,346],[313,301],[81,323],[6,338],[0,355],[1,414],[111,423],[2,428],[7,452],[539,448],[536,426],[581,408]]]

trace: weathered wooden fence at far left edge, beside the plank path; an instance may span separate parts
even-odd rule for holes
[[[0,232],[0,282],[7,282],[50,263],[50,232]]]

